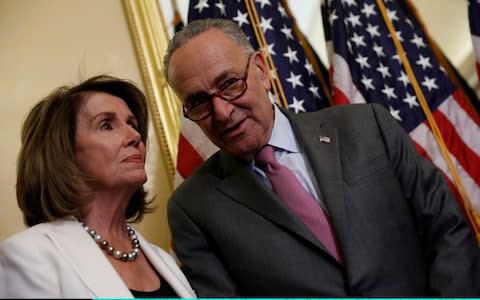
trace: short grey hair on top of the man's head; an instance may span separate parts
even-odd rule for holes
[[[168,78],[168,67],[173,53],[190,39],[211,28],[217,28],[223,31],[238,46],[245,50],[245,56],[248,56],[255,51],[245,33],[243,33],[240,26],[234,21],[227,19],[194,20],[188,23],[181,31],[177,32],[168,43],[167,53],[163,58],[163,73],[168,83],[170,83],[170,78]]]

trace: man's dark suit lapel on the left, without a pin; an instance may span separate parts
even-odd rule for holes
[[[225,167],[225,178],[218,185],[218,189],[256,213],[289,230],[324,251],[326,249],[287,208],[275,193],[263,186],[251,170],[248,163],[242,162],[222,152],[222,162]]]

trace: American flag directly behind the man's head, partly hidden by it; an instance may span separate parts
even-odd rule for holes
[[[230,19],[242,28],[255,49],[270,58],[271,99],[296,112],[330,106],[328,72],[301,34],[285,1],[278,0],[194,0],[188,20]],[[191,121],[181,120],[177,156],[177,185],[217,148]]]

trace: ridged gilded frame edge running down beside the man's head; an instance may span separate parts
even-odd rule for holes
[[[168,27],[158,1],[123,0],[123,6],[134,39],[155,133],[173,187],[181,110],[180,102],[163,76],[162,57],[169,40]]]

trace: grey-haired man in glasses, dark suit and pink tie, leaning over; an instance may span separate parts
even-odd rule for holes
[[[280,110],[264,57],[228,20],[187,25],[164,66],[185,116],[221,149],[168,203],[173,248],[200,297],[480,295],[471,229],[381,106]],[[296,184],[279,184],[264,149]],[[305,193],[314,205],[298,213]],[[305,219],[312,211],[322,226]]]

